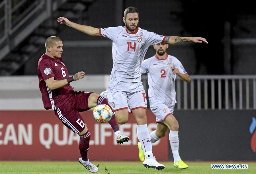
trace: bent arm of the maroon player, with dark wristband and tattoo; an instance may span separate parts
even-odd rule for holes
[[[83,71],[76,73],[73,76],[73,80],[71,77],[71,79],[67,78],[67,79],[63,79],[63,80],[54,80],[54,77],[51,77],[49,79],[47,79],[45,81],[46,85],[48,86],[48,88],[52,91],[54,89],[58,89],[61,88],[67,84],[69,84],[71,81],[76,81],[79,79],[83,79],[83,77],[85,77],[85,73]]]

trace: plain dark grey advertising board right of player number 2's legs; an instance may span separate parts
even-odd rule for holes
[[[256,160],[251,149],[253,135],[249,132],[255,110],[175,111],[174,116],[179,121],[181,158]],[[171,149],[169,159],[173,159]]]

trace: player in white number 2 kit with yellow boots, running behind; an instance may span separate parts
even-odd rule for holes
[[[156,54],[144,60],[141,72],[148,74],[148,97],[151,111],[156,116],[157,127],[149,136],[154,143],[165,136],[170,130],[169,141],[173,152],[174,167],[188,168],[179,156],[179,123],[173,116],[176,103],[175,79],[178,75],[183,81],[190,82],[190,77],[181,62],[174,56],[168,55],[168,44],[153,45]],[[141,143],[138,142],[139,158],[144,160]]]

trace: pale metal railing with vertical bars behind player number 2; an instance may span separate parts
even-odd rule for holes
[[[256,110],[256,75],[191,75],[190,77],[190,83],[182,81],[179,77],[176,78],[176,109]],[[147,76],[142,76],[142,81],[147,92]]]

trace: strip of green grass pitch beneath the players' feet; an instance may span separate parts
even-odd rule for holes
[[[255,162],[189,162],[188,169],[177,169],[173,162],[162,162],[165,165],[163,170],[144,168],[142,162],[93,162],[98,166],[99,174],[121,174],[121,173],[256,173]],[[211,169],[211,164],[248,164],[248,169]],[[0,173],[58,173],[58,174],[80,174],[91,173],[79,162],[18,162],[0,161]]]

